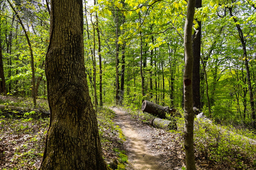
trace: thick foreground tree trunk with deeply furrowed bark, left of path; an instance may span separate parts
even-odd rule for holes
[[[51,116],[39,169],[105,170],[85,74],[82,0],[52,0],[50,28],[45,73]]]

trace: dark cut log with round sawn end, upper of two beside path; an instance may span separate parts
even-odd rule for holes
[[[159,118],[166,118],[166,113],[169,113],[169,107],[154,104],[148,100],[144,100],[141,106],[142,111],[150,113]]]

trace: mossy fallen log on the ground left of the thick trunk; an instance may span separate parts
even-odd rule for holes
[[[0,105],[1,115],[5,117],[33,117],[47,118],[50,117],[50,112],[44,109],[26,108],[19,106]]]

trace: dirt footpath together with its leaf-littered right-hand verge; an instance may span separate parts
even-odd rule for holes
[[[112,110],[116,113],[114,121],[126,138],[124,145],[132,166],[129,170],[181,169],[183,154],[177,150],[181,148],[172,133],[137,122],[116,107]]]

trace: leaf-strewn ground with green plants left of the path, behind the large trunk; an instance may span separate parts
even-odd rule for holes
[[[25,99],[25,98],[24,98]],[[20,105],[19,105],[20,103]],[[0,98],[0,104],[32,107],[30,100]],[[44,106],[47,106],[45,100]],[[6,117],[0,112],[0,169],[38,169],[45,145],[49,118],[34,118],[34,112],[22,116]],[[97,113],[103,157],[107,164],[117,160],[118,167],[125,169],[127,161],[123,142],[125,137],[119,126],[112,121],[115,113],[108,108],[100,108]],[[126,156],[127,157],[127,156]]]

